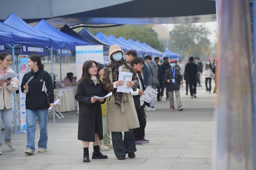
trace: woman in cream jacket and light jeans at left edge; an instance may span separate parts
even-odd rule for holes
[[[0,78],[14,73],[9,68],[10,56],[6,52],[0,53]],[[11,135],[13,130],[12,123],[12,108],[14,106],[13,92],[19,89],[19,80],[17,77],[0,80],[0,128],[2,127],[2,120],[4,122],[4,143],[8,145],[11,151],[16,149],[12,143]],[[0,155],[2,154],[2,133],[0,133]]]

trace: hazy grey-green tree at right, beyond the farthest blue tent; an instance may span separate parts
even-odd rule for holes
[[[182,56],[185,56],[185,54],[194,56],[206,55],[211,44],[208,39],[209,35],[210,31],[204,25],[175,25],[171,35],[172,48],[175,51],[180,51]]]

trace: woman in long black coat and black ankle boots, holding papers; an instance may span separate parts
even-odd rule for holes
[[[86,61],[83,64],[82,77],[77,83],[75,99],[78,101],[78,140],[83,141],[83,162],[90,162],[89,144],[93,142],[92,159],[107,159],[99,151],[99,141],[103,139],[101,104],[105,99],[94,99],[93,96],[105,96],[103,84],[97,73],[97,62]]]

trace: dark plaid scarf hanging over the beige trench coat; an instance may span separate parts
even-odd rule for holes
[[[118,76],[119,76],[119,67],[123,65],[123,61],[115,61],[112,60],[108,66],[111,67],[111,72],[112,72],[112,80],[113,82],[118,81]],[[115,95],[115,104],[118,104],[121,107],[121,97],[122,97],[122,92],[117,92],[117,88],[114,88],[114,95]]]

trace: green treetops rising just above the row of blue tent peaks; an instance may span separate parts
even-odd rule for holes
[[[117,38],[123,36],[125,39],[131,38],[134,41],[139,40],[142,43],[147,43],[156,50],[163,51],[163,44],[158,40],[158,34],[152,29],[152,25],[122,25],[108,28],[88,28],[88,31],[94,35],[101,31],[106,36],[112,34]]]

